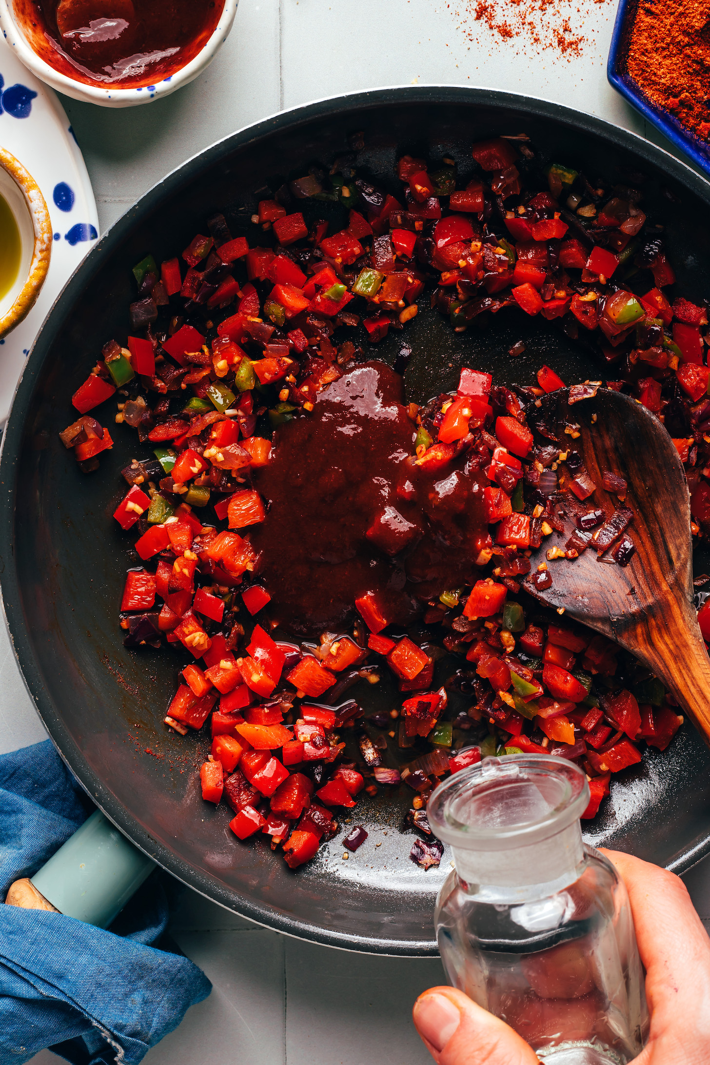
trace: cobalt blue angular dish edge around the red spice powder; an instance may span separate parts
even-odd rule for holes
[[[607,77],[614,88],[631,103],[637,111],[653,122],[664,136],[680,148],[693,162],[710,176],[710,143],[701,141],[687,126],[665,108],[658,108],[645,96],[641,87],[629,76],[627,56],[631,39],[631,29],[635,19],[639,0],[620,0],[616,21],[611,37]]]

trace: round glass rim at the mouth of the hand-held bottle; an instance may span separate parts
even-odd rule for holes
[[[554,755],[484,758],[434,790],[427,813],[444,842],[465,850],[529,846],[577,821],[589,804],[587,774]]]

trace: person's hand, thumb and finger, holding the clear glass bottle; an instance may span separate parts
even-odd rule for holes
[[[674,873],[604,851],[626,884],[646,969],[650,1031],[633,1065],[707,1065],[710,1056],[710,939]],[[538,1065],[505,1021],[453,987],[431,987],[414,1023],[437,1065]]]

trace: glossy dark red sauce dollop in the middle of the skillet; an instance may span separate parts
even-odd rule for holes
[[[368,591],[403,624],[417,600],[472,579],[474,545],[488,532],[482,489],[463,459],[441,474],[416,465],[401,392],[399,374],[367,363],[320,393],[312,417],[275,433],[258,478],[269,506],[251,542],[287,629],[340,630]]]

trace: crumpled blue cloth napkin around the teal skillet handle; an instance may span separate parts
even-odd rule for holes
[[[50,740],[0,756],[0,900],[94,812]],[[152,873],[109,931],[0,904],[0,1065],[45,1047],[75,1065],[134,1065],[212,985],[155,944],[168,919]]]

